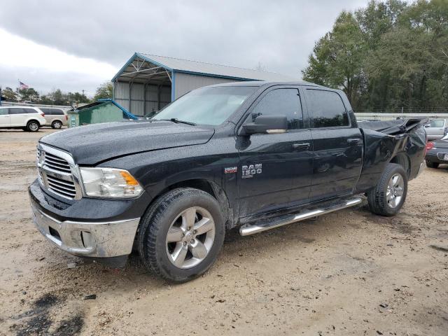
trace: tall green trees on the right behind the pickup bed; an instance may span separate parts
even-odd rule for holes
[[[447,111],[448,1],[370,1],[343,11],[302,71],[355,111]]]

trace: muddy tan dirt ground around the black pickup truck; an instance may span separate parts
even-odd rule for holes
[[[86,263],[34,228],[36,134],[0,131],[0,335],[448,335],[448,166],[409,183],[398,216],[354,207],[230,232],[195,281]],[[87,295],[96,295],[85,300]]]

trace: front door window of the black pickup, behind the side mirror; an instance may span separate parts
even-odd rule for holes
[[[299,90],[276,89],[267,92],[257,106],[252,110],[252,121],[258,116],[286,116],[288,118],[288,130],[303,128],[302,104],[300,103]],[[250,118],[250,117],[249,117]]]

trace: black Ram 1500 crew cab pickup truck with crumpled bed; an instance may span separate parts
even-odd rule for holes
[[[357,123],[345,94],[311,83],[194,90],[151,120],[43,137],[29,186],[34,223],[68,253],[187,281],[226,230],[252,235],[363,202],[402,207],[421,171],[421,120]]]

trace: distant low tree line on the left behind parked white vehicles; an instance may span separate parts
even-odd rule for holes
[[[62,92],[59,89],[52,90],[47,94],[39,94],[33,87],[27,89],[5,87],[1,90],[1,97],[6,102],[33,102],[45,105],[73,105],[76,103],[96,102],[98,99],[112,98],[112,83],[105,82],[97,87],[94,97],[89,98],[80,92]]]

